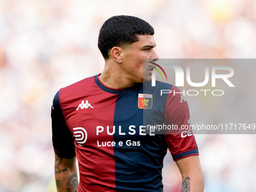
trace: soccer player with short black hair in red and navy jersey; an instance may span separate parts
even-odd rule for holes
[[[151,87],[150,66],[158,59],[153,35],[138,17],[111,17],[99,32],[102,74],[56,93],[51,117],[58,191],[163,191],[167,149],[181,172],[181,191],[203,191],[193,134],[147,129],[190,123],[183,96],[160,96],[161,89],[178,92],[176,87],[160,81]],[[151,62],[143,65],[143,59]]]

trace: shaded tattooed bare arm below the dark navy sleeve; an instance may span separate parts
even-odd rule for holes
[[[55,180],[58,192],[78,192],[76,157],[64,159],[55,154]]]

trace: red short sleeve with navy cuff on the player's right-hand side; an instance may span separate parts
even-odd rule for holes
[[[166,125],[172,130],[165,135],[166,144],[173,160],[198,155],[197,142],[190,130],[190,114],[187,101],[177,87],[172,87],[165,107]]]

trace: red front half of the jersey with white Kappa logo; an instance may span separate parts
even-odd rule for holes
[[[99,89],[94,77],[59,91],[66,124],[75,138],[80,171],[78,191],[115,191],[113,136],[108,133],[113,129],[116,99],[116,94]]]

